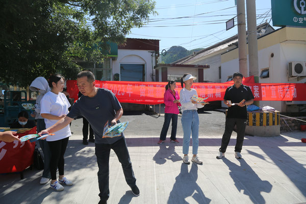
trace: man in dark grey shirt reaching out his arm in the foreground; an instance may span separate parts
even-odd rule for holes
[[[125,181],[136,196],[140,194],[136,186],[129,151],[125,143],[123,133],[114,138],[103,138],[104,124],[114,125],[123,114],[123,109],[115,94],[108,89],[95,87],[94,75],[90,71],[81,71],[77,76],[79,91],[83,94],[72,106],[65,118],[55,125],[42,131],[40,134],[53,133],[69,124],[77,116],[85,117],[95,136],[95,155],[98,163],[99,203],[107,203],[109,198],[109,157],[110,150],[116,153],[122,165]]]

